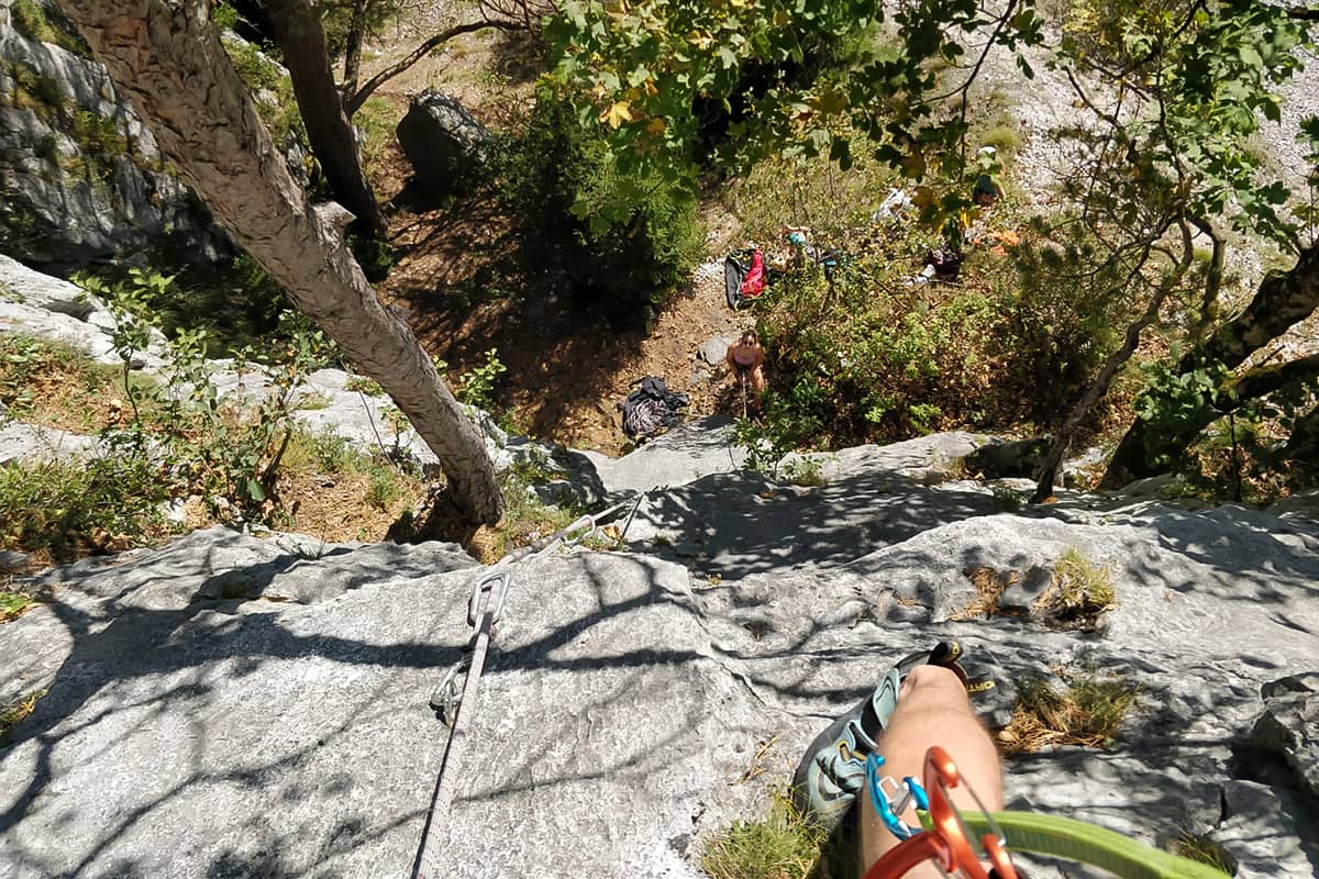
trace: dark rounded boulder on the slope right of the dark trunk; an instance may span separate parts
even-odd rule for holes
[[[456,98],[429,88],[413,98],[397,134],[417,182],[435,195],[470,190],[489,153],[489,129]]]

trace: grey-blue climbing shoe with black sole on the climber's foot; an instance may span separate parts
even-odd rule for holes
[[[968,685],[972,679],[960,659],[962,644],[955,640],[940,640],[934,650],[904,658],[873,693],[824,727],[793,774],[793,796],[802,814],[830,832],[842,824],[865,785],[865,756],[876,750],[876,739],[889,725],[902,679],[917,666],[943,666]]]

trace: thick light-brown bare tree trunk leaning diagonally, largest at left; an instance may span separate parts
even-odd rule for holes
[[[289,175],[206,1],[61,5],[193,190],[412,419],[439,457],[456,506],[474,522],[497,522],[503,498],[481,436],[344,246],[347,211],[314,208]]]

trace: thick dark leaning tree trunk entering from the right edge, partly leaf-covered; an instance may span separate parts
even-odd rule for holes
[[[1308,318],[1316,306],[1319,306],[1319,242],[1303,249],[1290,271],[1266,277],[1246,310],[1219,327],[1202,348],[1188,352],[1178,368],[1182,372],[1192,369],[1198,354],[1207,362],[1221,362],[1229,369],[1240,366],[1250,354],[1281,336],[1293,324]],[[1186,451],[1203,427],[1204,424],[1195,427],[1195,432],[1191,434],[1148,436],[1145,422],[1137,419],[1113,452],[1100,488],[1115,489],[1132,480],[1154,476],[1158,468],[1149,464],[1148,455],[1154,452],[1151,457],[1174,459]],[[1153,448],[1149,448],[1149,444],[1153,444]]]

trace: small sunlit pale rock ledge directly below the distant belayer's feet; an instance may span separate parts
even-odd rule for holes
[[[716,415],[679,424],[620,459],[582,455],[595,465],[607,492],[646,492],[737,470],[747,452],[732,444],[731,432],[732,419]]]

